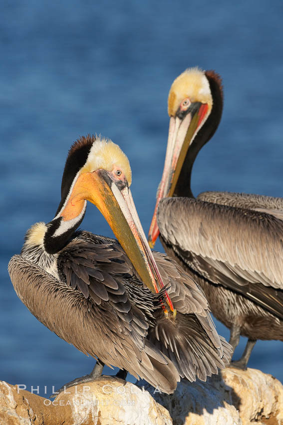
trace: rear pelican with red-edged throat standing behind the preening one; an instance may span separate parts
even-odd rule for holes
[[[214,315],[247,336],[245,368],[257,339],[283,340],[283,199],[244,193],[191,191],[201,147],[221,119],[223,89],[214,71],[187,69],[168,96],[169,136],[149,230],[203,288]]]

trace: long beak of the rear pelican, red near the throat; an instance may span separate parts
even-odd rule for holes
[[[148,241],[151,248],[154,247],[159,235],[157,224],[158,204],[163,197],[173,195],[189,146],[205,121],[207,112],[208,105],[206,103],[195,102],[191,104],[184,117],[170,117],[163,174],[148,233]]]

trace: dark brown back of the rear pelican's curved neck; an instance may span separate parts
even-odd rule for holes
[[[213,98],[211,113],[194,141],[190,145],[181,173],[174,191],[174,196],[194,197],[191,189],[191,174],[193,164],[202,146],[207,143],[219,125],[223,109],[223,89],[220,76],[214,71],[206,71],[205,75],[209,81]]]

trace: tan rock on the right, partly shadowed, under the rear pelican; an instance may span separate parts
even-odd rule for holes
[[[228,367],[207,382],[183,379],[171,396],[141,384],[169,410],[173,425],[283,425],[283,385],[257,369]]]

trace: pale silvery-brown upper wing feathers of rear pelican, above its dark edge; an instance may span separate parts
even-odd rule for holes
[[[278,218],[175,197],[161,201],[158,225],[163,238],[183,252],[222,264],[221,271],[229,268],[246,281],[283,289],[283,222]]]

